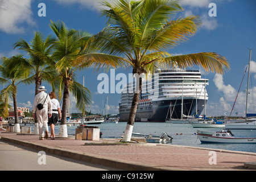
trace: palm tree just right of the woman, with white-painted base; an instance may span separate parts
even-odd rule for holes
[[[57,36],[52,59],[56,63],[55,67],[58,72],[55,85],[59,89],[59,98],[63,95],[60,136],[67,137],[66,116],[69,92],[75,96],[76,108],[82,113],[85,111],[85,106],[90,106],[92,100],[89,89],[76,82],[77,69],[90,67],[99,70],[104,67],[105,70],[108,70],[110,67],[121,67],[123,59],[94,52],[96,48],[90,46],[92,35],[88,32],[69,30],[63,22],[53,23],[51,21],[49,26]]]

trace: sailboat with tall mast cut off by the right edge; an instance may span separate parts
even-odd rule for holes
[[[250,49],[250,56],[249,56],[249,64],[248,64],[248,78],[247,78],[247,90],[246,90],[246,106],[245,106],[245,120],[240,120],[234,123],[228,122],[226,123],[226,129],[237,129],[237,130],[256,130],[256,118],[249,118],[255,117],[256,114],[248,114],[247,113],[247,106],[248,106],[248,94],[249,94],[249,77],[250,77],[250,62],[251,62],[251,49]],[[245,71],[246,72],[246,71]],[[239,92],[239,90],[238,90]],[[236,101],[234,102],[234,104]],[[234,105],[233,105],[234,107]],[[231,111],[232,113],[232,111]],[[230,113],[230,115],[231,115]],[[229,115],[229,117],[230,117]]]

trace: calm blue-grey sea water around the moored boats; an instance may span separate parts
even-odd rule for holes
[[[119,123],[101,123],[100,125],[89,125],[98,126],[102,132],[102,138],[119,138],[123,134],[126,127],[126,122]],[[76,126],[68,127],[68,135],[75,135]],[[32,126],[32,130],[33,130]],[[55,134],[59,134],[58,125],[55,126]],[[172,143],[181,146],[194,146],[194,147],[204,147],[204,148],[218,148],[225,150],[234,151],[246,151],[246,152],[256,152],[256,144],[202,144],[196,136],[196,130],[190,124],[174,124],[174,123],[150,123],[150,122],[135,122],[134,123],[134,133],[141,134],[152,134],[160,135],[162,132],[166,132],[171,135]],[[203,131],[220,131],[221,129],[199,129]],[[182,135],[181,135],[182,133]],[[256,138],[256,130],[232,130],[235,137],[244,138]]]

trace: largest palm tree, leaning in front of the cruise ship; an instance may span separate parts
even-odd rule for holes
[[[229,69],[225,57],[213,52],[172,56],[167,51],[195,35],[200,19],[187,16],[172,20],[173,15],[182,11],[175,0],[118,0],[102,2],[102,16],[108,23],[104,30],[94,35],[92,45],[106,55],[123,59],[133,68],[133,73],[153,73],[160,66],[177,65],[180,68],[199,65],[206,71],[224,73]],[[137,113],[142,79],[139,78],[138,92],[135,92],[130,115],[126,125],[124,142],[129,142]]]

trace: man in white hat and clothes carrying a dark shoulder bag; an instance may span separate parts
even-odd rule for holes
[[[45,93],[46,89],[44,86],[40,86],[38,89],[39,93],[36,94],[34,105],[33,105],[33,118],[36,117],[38,119],[38,126],[39,126],[39,139],[44,139],[44,129],[46,130],[46,139],[48,138],[49,129],[48,129],[48,108],[49,108],[49,118],[52,116],[52,105],[51,99],[49,98],[48,94]],[[40,108],[40,104],[42,104],[42,109]],[[43,129],[44,127],[44,129]]]

